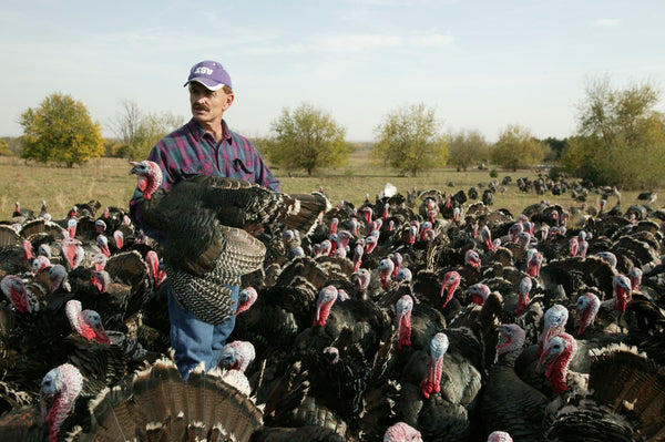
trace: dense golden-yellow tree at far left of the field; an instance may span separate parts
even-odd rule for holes
[[[22,158],[62,162],[68,167],[86,163],[104,153],[100,124],[71,95],[53,93],[37,109],[21,114]]]

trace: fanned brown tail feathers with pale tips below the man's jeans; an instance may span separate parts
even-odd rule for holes
[[[185,382],[175,364],[158,360],[94,401],[90,432],[71,440],[248,441],[263,413],[219,372],[195,370]]]

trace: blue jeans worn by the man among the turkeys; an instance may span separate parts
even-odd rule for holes
[[[232,289],[232,309],[238,306],[238,286],[227,286]],[[171,320],[171,347],[175,351],[175,364],[184,380],[190,377],[190,370],[201,362],[205,369],[217,367],[226,338],[235,327],[235,315],[218,326],[204,322],[188,309],[181,308],[168,286],[168,319]]]

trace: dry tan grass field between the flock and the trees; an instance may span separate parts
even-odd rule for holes
[[[16,202],[20,202],[21,207],[39,212],[41,201],[45,199],[54,218],[64,217],[74,204],[90,199],[98,199],[102,206],[126,207],[136,185],[135,176],[130,175],[129,171],[129,162],[119,158],[98,158],[86,165],[66,168],[0,156],[0,220],[11,217]],[[285,193],[309,193],[323,188],[334,204],[347,199],[356,205],[362,203],[366,194],[374,201],[386,183],[392,183],[399,193],[406,195],[413,186],[447,193],[459,189],[468,192],[471,186],[487,187],[491,179],[489,171],[457,172],[454,168],[428,171],[417,177],[400,176],[395,169],[372,165],[369,151],[355,152],[347,166],[320,169],[311,177],[301,172],[288,173],[279,168],[273,168],[273,172],[280,179],[282,191]],[[528,205],[543,198],[535,193],[519,192],[515,185],[515,179],[520,176],[536,177],[534,171],[500,169],[499,182],[505,175],[510,175],[513,181],[504,193],[495,195],[494,208],[508,208],[516,215]],[[454,184],[454,187],[449,186],[449,183]],[[624,209],[636,202],[636,192],[623,192],[622,195]],[[545,197],[564,208],[581,206],[570,193],[562,196],[549,194]],[[597,206],[598,201],[600,196],[592,193],[587,204]],[[657,207],[662,206],[659,203],[656,203]],[[607,204],[614,205],[615,201]]]

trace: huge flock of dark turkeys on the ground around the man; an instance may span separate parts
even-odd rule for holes
[[[545,201],[513,215],[387,186],[309,233],[264,225],[219,367],[186,382],[163,249],[127,210],[17,203],[0,224],[0,440],[665,440],[654,203],[573,224]]]

